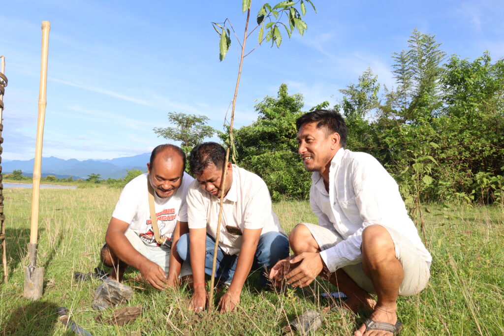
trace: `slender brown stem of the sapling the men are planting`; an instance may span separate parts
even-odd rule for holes
[[[243,43],[241,45],[241,57],[240,57],[240,65],[238,67],[238,78],[236,79],[236,87],[234,89],[233,96],[233,105],[231,107],[231,121],[229,122],[229,135],[230,141],[232,141],[233,137],[233,121],[234,121],[234,108],[236,106],[236,97],[238,96],[238,87],[240,85],[240,77],[241,77],[241,66],[243,65],[243,58],[245,54],[245,43],[247,41],[247,27],[248,27],[248,19],[250,17],[250,6],[251,1],[248,4],[247,10],[247,19],[245,21],[245,32],[243,34]],[[226,160],[224,161],[224,167],[222,172],[222,182],[221,182],[221,197],[220,197],[220,209],[219,209],[219,217],[217,220],[217,234],[215,237],[215,248],[214,248],[214,259],[212,261],[212,276],[210,278],[210,295],[209,295],[209,307],[213,307],[213,298],[214,298],[214,283],[215,283],[215,269],[217,264],[217,249],[219,248],[219,238],[220,238],[220,226],[222,220],[222,205],[224,204],[224,190],[226,188],[226,175],[227,175],[227,165],[229,162],[229,150],[231,143],[227,146],[226,150]]]

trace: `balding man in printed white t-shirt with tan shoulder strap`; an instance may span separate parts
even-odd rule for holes
[[[131,180],[122,190],[105,235],[100,256],[113,266],[110,278],[121,281],[128,265],[140,271],[153,287],[176,287],[179,276],[191,274],[188,264],[176,253],[180,232],[177,223],[187,225],[187,189],[194,180],[184,172],[185,154],[173,145],[159,145],[147,164],[148,174]],[[163,245],[154,237],[149,211],[148,184],[154,189],[154,209]],[[180,226],[177,226],[180,227]],[[171,249],[173,247],[173,249]],[[172,252],[170,253],[170,251]]]

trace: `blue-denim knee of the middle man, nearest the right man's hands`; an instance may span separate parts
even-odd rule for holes
[[[257,263],[266,267],[273,266],[278,260],[289,256],[289,241],[279,232],[267,232],[259,238],[257,245]]]

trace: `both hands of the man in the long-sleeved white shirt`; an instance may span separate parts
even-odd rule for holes
[[[323,267],[320,253],[303,252],[278,261],[270,272],[270,278],[275,281],[275,286],[286,280],[293,287],[306,287],[322,272]]]

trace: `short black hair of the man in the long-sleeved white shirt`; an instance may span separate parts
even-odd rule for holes
[[[338,133],[340,135],[341,147],[346,146],[346,139],[348,135],[347,126],[345,119],[341,116],[339,112],[335,110],[315,110],[303,114],[296,120],[296,128],[299,131],[302,125],[308,122],[317,122],[317,128],[324,127],[326,130],[326,136],[332,133]]]

